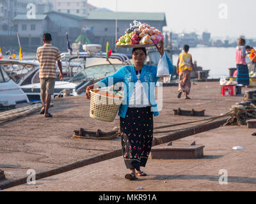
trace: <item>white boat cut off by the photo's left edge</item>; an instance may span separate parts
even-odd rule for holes
[[[15,108],[17,104],[28,103],[29,99],[0,65],[0,108]]]

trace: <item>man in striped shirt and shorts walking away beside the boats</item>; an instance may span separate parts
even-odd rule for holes
[[[41,83],[41,101],[42,109],[40,114],[45,117],[52,117],[48,112],[51,104],[51,95],[54,94],[54,85],[56,80],[56,61],[60,69],[60,80],[63,80],[60,51],[56,47],[52,47],[52,36],[45,33],[43,36],[44,46],[38,47],[36,57],[40,62],[40,83]],[[45,98],[46,96],[46,98]],[[46,101],[45,101],[46,100]],[[46,105],[45,105],[46,102]]]

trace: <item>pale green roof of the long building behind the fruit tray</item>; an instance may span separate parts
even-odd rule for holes
[[[116,12],[91,11],[87,17],[89,20],[115,20]],[[118,12],[118,20],[165,20],[165,13],[135,13]]]

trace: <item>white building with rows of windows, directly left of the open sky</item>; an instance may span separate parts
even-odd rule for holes
[[[87,17],[87,0],[52,0],[54,11]]]

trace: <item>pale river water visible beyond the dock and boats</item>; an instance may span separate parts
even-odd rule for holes
[[[235,48],[196,47],[190,48],[193,61],[203,69],[210,69],[209,78],[228,77],[228,68],[236,68]],[[24,59],[36,58],[34,53],[24,53]],[[173,55],[173,64],[177,65],[179,56]]]

